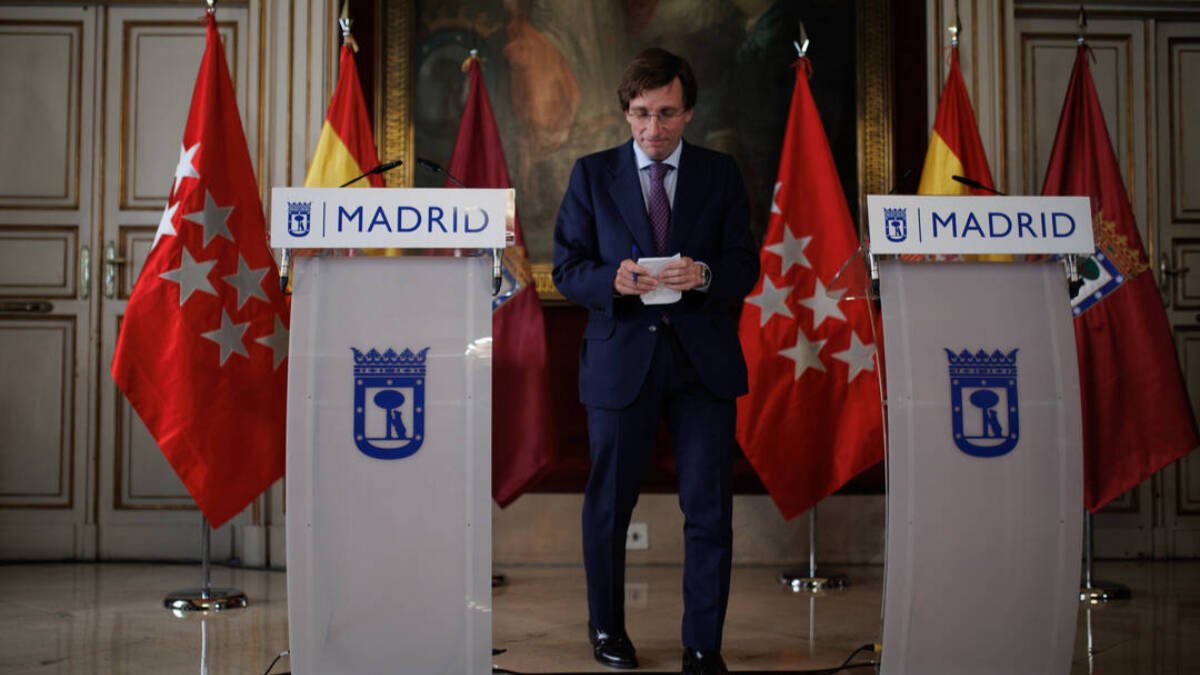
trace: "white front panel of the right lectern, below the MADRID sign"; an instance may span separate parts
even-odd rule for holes
[[[880,275],[881,673],[1068,673],[1084,495],[1062,267],[883,261]]]

